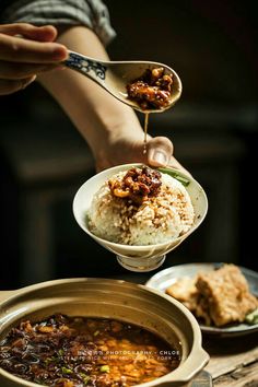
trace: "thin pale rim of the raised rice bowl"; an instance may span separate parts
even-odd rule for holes
[[[204,198],[204,201],[206,201],[206,209],[204,209],[204,212],[203,212],[203,215],[201,216],[201,219],[198,220],[198,222],[196,222],[196,224],[194,224],[185,234],[178,236],[177,238],[175,239],[171,239],[171,241],[167,241],[167,242],[163,242],[163,243],[160,243],[160,244],[154,244],[154,245],[126,245],[126,244],[120,244],[120,243],[115,243],[115,242],[112,242],[112,241],[108,241],[108,239],[104,239],[95,234],[93,234],[87,225],[86,225],[86,222],[84,224],[82,224],[82,222],[80,222],[80,219],[79,216],[77,216],[77,202],[78,202],[78,198],[79,196],[81,195],[81,191],[83,190],[83,188],[85,187],[86,184],[91,183],[92,180],[94,180],[96,178],[96,176],[102,176],[102,175],[105,175],[107,172],[119,172],[120,168],[122,168],[120,172],[122,171],[127,171],[129,169],[130,167],[140,167],[140,166],[143,166],[144,164],[143,163],[129,163],[129,164],[120,164],[120,165],[116,165],[116,166],[113,166],[110,168],[107,168],[107,169],[104,169],[97,174],[95,174],[94,176],[90,177],[86,181],[84,181],[80,187],[79,189],[77,190],[75,195],[74,195],[74,198],[73,198],[73,201],[72,201],[72,212],[73,212],[73,216],[75,218],[75,221],[77,223],[79,224],[79,226],[87,234],[90,235],[92,238],[94,238],[95,241],[99,241],[102,244],[105,244],[105,245],[108,245],[110,247],[114,247],[114,248],[125,248],[125,246],[127,246],[127,249],[130,251],[141,251],[141,250],[145,250],[146,248],[148,249],[152,249],[152,248],[163,248],[163,247],[166,247],[167,245],[169,245],[171,243],[176,243],[176,244],[180,244],[187,236],[189,236],[194,231],[196,231],[200,224],[203,222],[203,220],[206,219],[206,215],[207,215],[207,212],[208,212],[208,207],[209,207],[209,202],[208,202],[208,197],[207,197],[207,194],[204,191],[204,189],[202,188],[202,186],[190,175],[186,175],[184,174],[181,171],[177,169],[177,168],[174,168],[174,167],[171,167],[171,166],[167,166],[166,168],[169,168],[172,169],[173,172],[177,173],[178,175],[181,175],[183,177],[187,178],[188,180],[190,180],[190,183],[194,183],[196,185],[196,187],[200,190],[200,192],[202,194],[203,198]],[[153,169],[155,169],[154,167],[151,167]],[[164,173],[163,173],[164,174]],[[187,190],[187,187],[185,187],[186,190]],[[188,192],[188,190],[187,190]],[[189,192],[188,192],[189,194]],[[189,194],[190,195],[190,194]],[[86,214],[85,214],[86,216]]]

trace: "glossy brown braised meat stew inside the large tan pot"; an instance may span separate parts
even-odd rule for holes
[[[0,342],[0,367],[23,379],[52,387],[127,387],[175,370],[173,348],[132,324],[55,315],[22,321]]]

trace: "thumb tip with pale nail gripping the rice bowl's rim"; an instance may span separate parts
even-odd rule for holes
[[[146,157],[151,166],[166,166],[173,153],[173,143],[166,137],[154,137],[148,142]]]

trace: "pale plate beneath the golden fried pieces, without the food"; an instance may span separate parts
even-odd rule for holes
[[[145,283],[146,286],[157,289],[165,293],[165,290],[175,283],[178,279],[183,277],[195,277],[198,272],[208,272],[214,270],[214,268],[221,267],[223,263],[186,263],[174,266],[172,268],[159,271],[156,274],[150,278]],[[258,273],[239,267],[242,273],[245,275],[250,292],[258,296]],[[258,324],[234,324],[225,328],[208,327],[200,324],[202,332],[209,335],[221,335],[221,336],[242,336],[250,332],[258,331]]]

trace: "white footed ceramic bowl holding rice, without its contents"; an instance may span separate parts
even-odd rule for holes
[[[178,169],[171,168],[172,172],[189,180],[186,187],[195,209],[195,222],[190,230],[179,236],[172,238],[169,242],[157,245],[148,246],[130,246],[113,243],[94,235],[87,226],[86,214],[91,207],[93,196],[101,186],[113,175],[131,168],[132,166],[141,166],[142,164],[125,164],[105,169],[85,181],[78,190],[73,200],[73,214],[78,224],[99,245],[113,251],[121,266],[131,271],[150,271],[159,268],[165,259],[165,255],[176,248],[184,239],[186,239],[203,221],[207,210],[208,200],[203,188],[192,177],[179,173]]]

